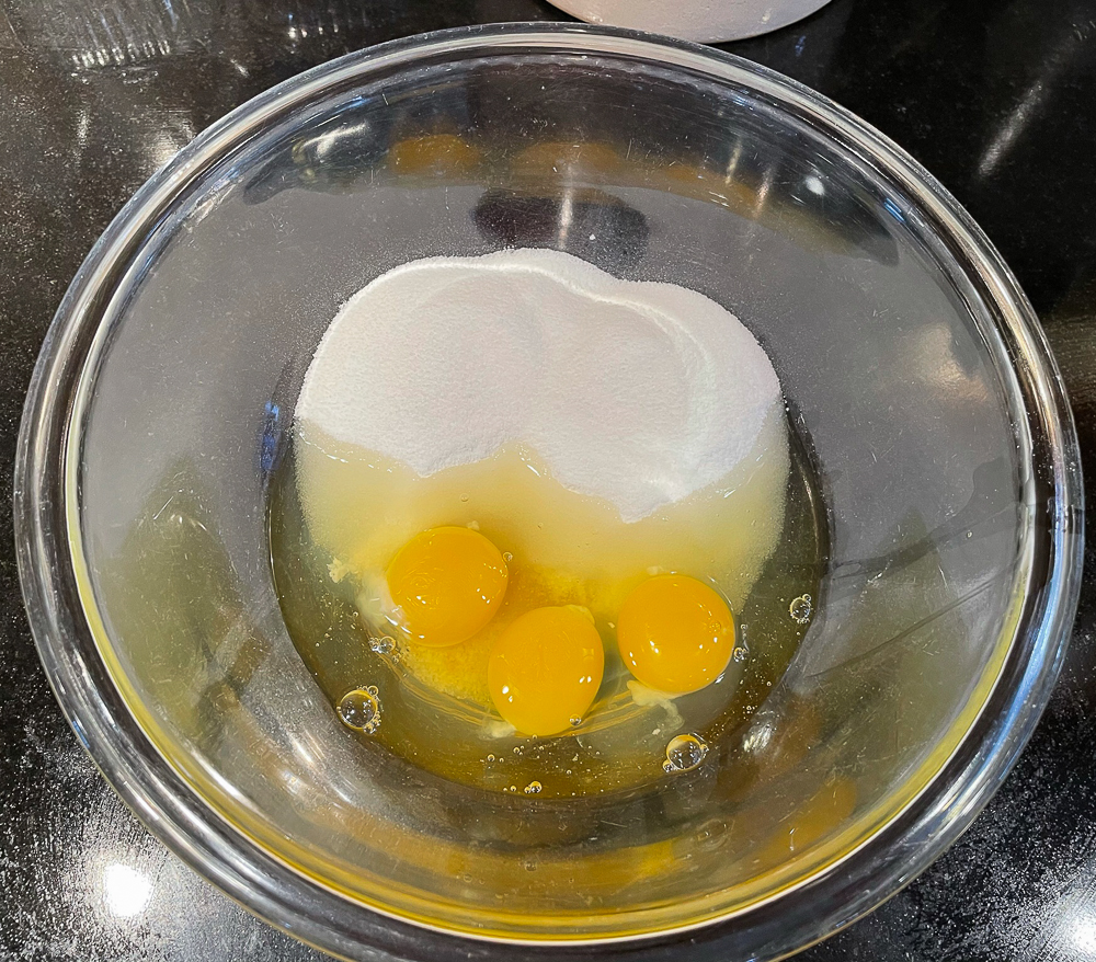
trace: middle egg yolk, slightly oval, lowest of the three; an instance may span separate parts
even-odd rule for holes
[[[488,688],[518,732],[555,735],[590,710],[604,671],[602,638],[585,608],[534,608],[495,642]]]

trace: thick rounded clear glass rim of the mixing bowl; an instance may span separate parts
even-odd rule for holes
[[[791,893],[731,917],[667,932],[536,942],[482,939],[383,915],[306,879],[224,824],[156,752],[113,688],[85,621],[69,554],[66,448],[76,386],[113,282],[150,226],[186,186],[249,133],[327,88],[381,67],[445,54],[566,51],[633,55],[663,67],[747,82],[792,104],[846,149],[897,181],[932,218],[996,311],[997,333],[1027,402],[1031,508],[1039,569],[1014,643],[983,710],[923,791],[864,845]],[[267,90],[213,124],[149,179],[96,241],[45,337],[24,405],[14,470],[20,583],[38,655],[69,723],[107,781],[175,855],[266,921],[344,958],[587,958],[612,951],[669,960],[687,936],[696,959],[777,959],[831,935],[912,881],[950,845],[1000,787],[1030,737],[1061,668],[1081,587],[1083,481],[1061,375],[1034,309],[981,229],[900,147],[829,99],[776,71],[699,45],[583,24],[493,24],[404,37],[349,54]],[[895,845],[899,840],[901,845]],[[789,904],[795,898],[794,905]]]

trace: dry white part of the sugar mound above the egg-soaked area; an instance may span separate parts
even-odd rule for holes
[[[426,477],[522,444],[625,522],[720,480],[780,386],[715,301],[557,251],[403,264],[323,335],[296,416]]]

